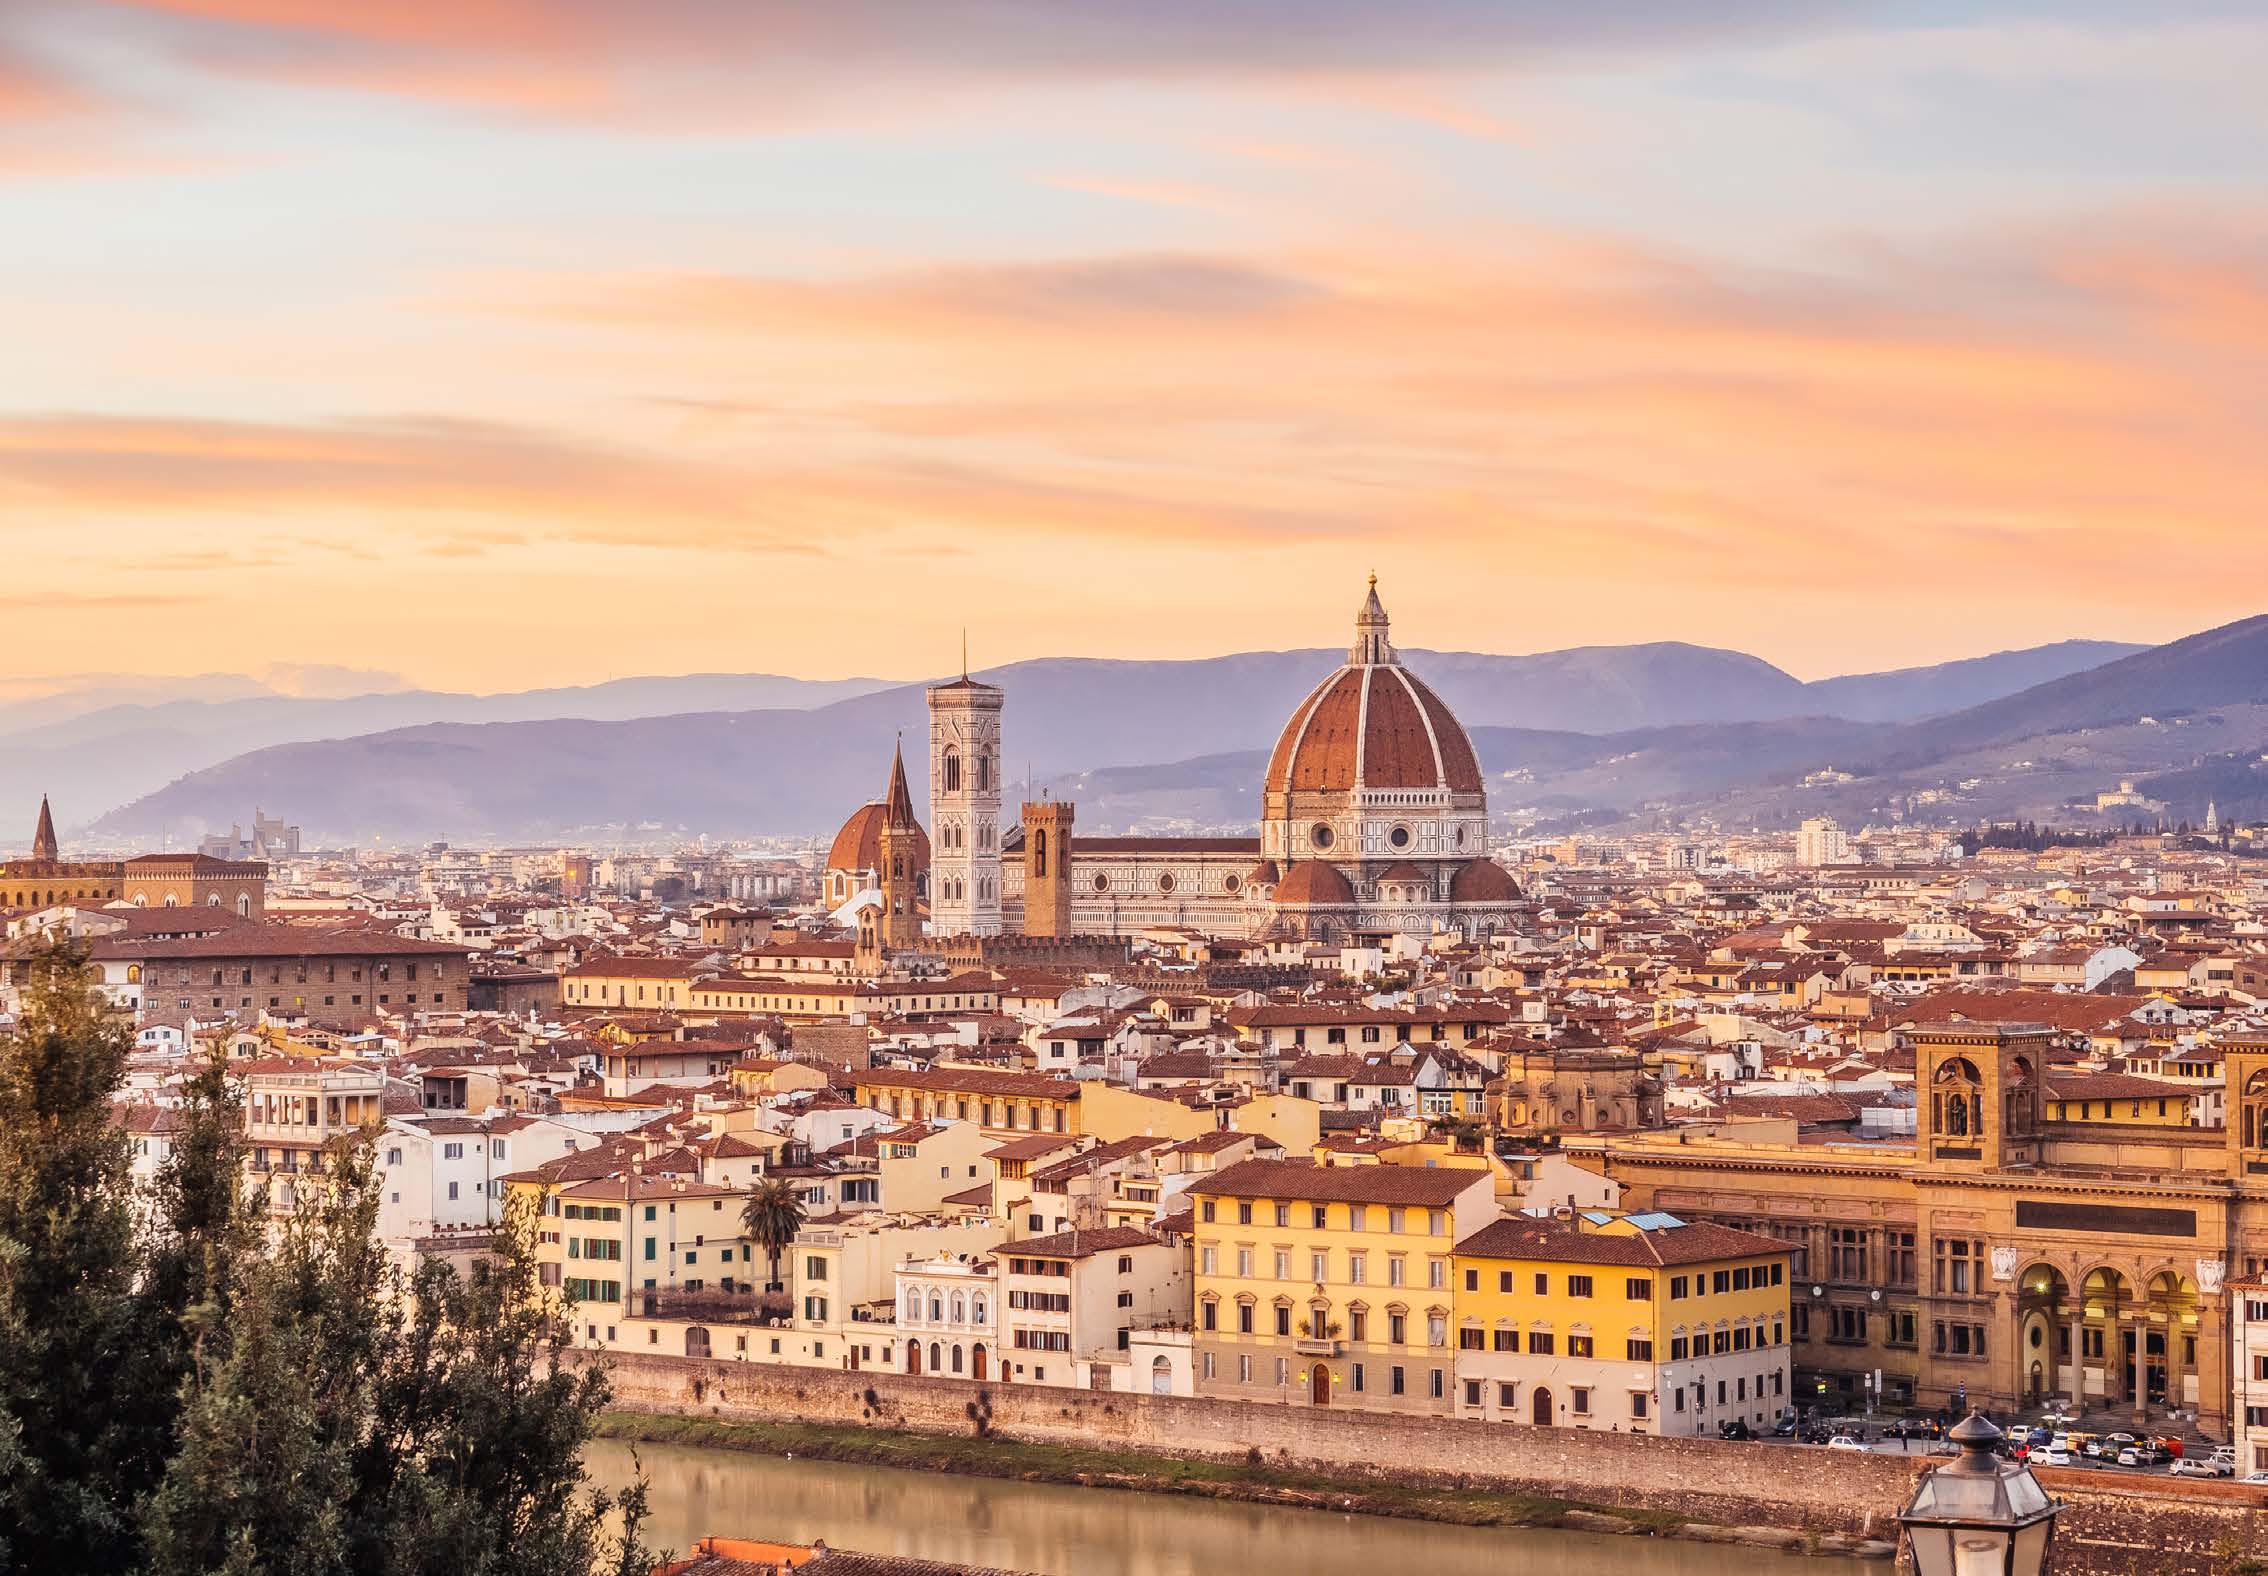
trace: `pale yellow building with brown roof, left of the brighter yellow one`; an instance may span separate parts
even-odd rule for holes
[[[1241,1161],[1188,1195],[1198,1395],[1449,1413],[1452,1256],[1490,1172]]]

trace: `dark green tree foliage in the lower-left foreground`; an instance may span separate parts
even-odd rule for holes
[[[608,1383],[562,1363],[531,1215],[465,1270],[401,1268],[367,1134],[288,1197],[247,1188],[218,1048],[136,1200],[111,1122],[132,1036],[66,946],[32,980],[0,1039],[0,1571],[653,1567],[644,1488],[585,1483]]]

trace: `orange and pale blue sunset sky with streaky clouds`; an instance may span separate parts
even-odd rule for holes
[[[0,678],[2268,610],[2268,7],[11,0]]]

